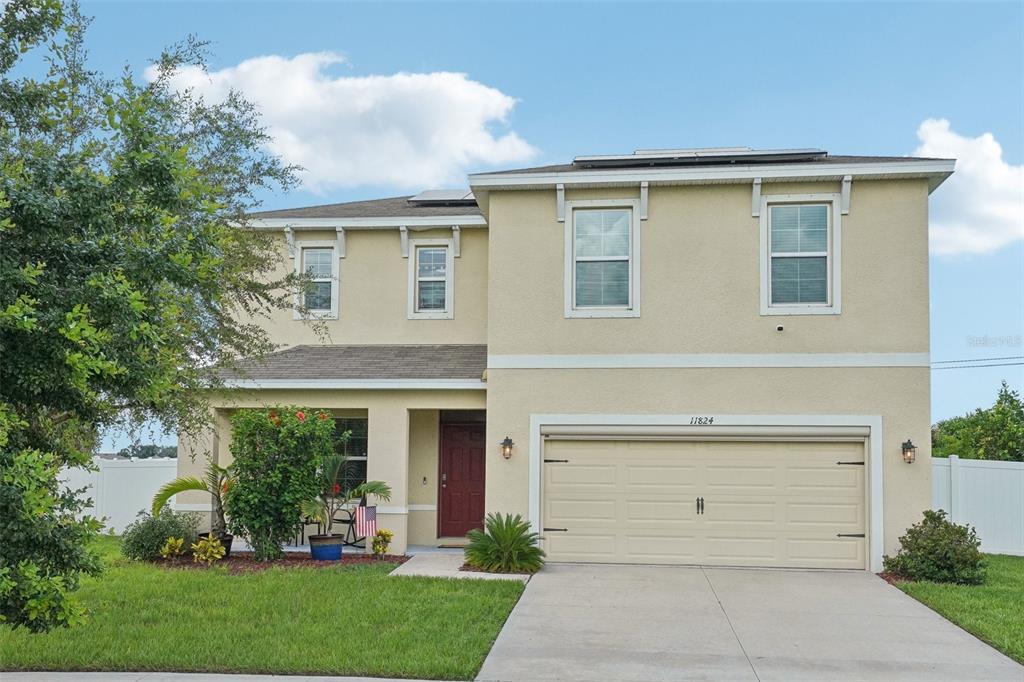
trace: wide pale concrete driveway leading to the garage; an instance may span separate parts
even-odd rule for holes
[[[477,679],[1024,682],[1024,667],[864,571],[552,564]]]

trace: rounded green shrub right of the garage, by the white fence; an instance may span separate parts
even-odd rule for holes
[[[974,528],[946,519],[944,511],[927,510],[925,519],[899,539],[896,556],[886,556],[885,569],[909,581],[980,585],[985,581],[981,541]]]

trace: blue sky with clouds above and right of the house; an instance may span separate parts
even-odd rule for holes
[[[963,151],[977,160],[968,179],[933,197],[932,357],[1024,355],[1022,3],[83,7],[95,17],[92,66],[108,73],[126,63],[142,72],[186,34],[212,41],[215,78],[252,88],[275,112],[271,123],[298,137],[282,148],[313,169],[312,189],[267,196],[268,208],[393,196],[428,180],[458,183],[467,171],[641,147]],[[315,53],[331,56],[299,59]],[[302,87],[291,90],[293,74]],[[418,103],[421,86],[432,104]],[[348,111],[360,97],[377,101],[372,116]],[[306,118],[294,106],[278,111],[304,98]],[[447,120],[452,101],[474,114]],[[335,119],[334,110],[345,113]],[[930,119],[948,124],[920,139]],[[415,170],[403,177],[352,151],[365,138],[390,148],[395,135],[417,146],[434,127],[458,154],[431,165],[423,142],[408,152]],[[336,138],[351,152],[337,155],[347,166],[329,158]],[[933,372],[933,418],[989,404],[1001,379],[1020,389],[1024,367]]]

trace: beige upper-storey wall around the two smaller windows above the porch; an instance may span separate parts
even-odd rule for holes
[[[451,229],[410,231],[411,240],[451,239]],[[296,253],[303,243],[334,243],[335,232],[296,230]],[[454,259],[452,319],[409,319],[409,258],[401,256],[397,229],[349,229],[339,259],[338,318],[324,321],[326,343],[485,343],[487,330],[487,230],[461,230],[461,256]],[[298,256],[296,256],[298,257]],[[281,233],[281,269],[291,271]],[[321,343],[309,325],[292,310],[275,310],[260,321],[270,340],[283,346]]]

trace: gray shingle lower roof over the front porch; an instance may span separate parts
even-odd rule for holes
[[[294,346],[240,364],[229,379],[480,379],[482,344]]]

